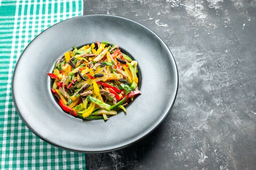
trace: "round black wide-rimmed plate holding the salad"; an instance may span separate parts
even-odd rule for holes
[[[83,121],[65,113],[50,89],[54,62],[72,46],[107,40],[138,61],[141,84],[127,114]],[[74,152],[124,148],[152,132],[171,110],[178,73],[166,44],[147,27],[113,15],[65,20],[40,33],[23,51],[13,73],[12,95],[25,125],[48,143]]]

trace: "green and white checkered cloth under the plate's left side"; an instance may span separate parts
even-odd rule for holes
[[[83,0],[0,0],[0,162],[3,169],[85,169],[85,155],[34,135],[13,106],[11,77],[27,44],[49,26],[83,15]]]

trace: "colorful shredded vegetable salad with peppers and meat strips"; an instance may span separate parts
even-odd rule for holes
[[[81,119],[116,115],[141,92],[137,88],[137,61],[109,42],[67,51],[54,66],[52,93],[61,108]]]

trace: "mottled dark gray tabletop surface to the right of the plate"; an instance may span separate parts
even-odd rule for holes
[[[86,154],[88,170],[256,170],[256,1],[84,1],[157,33],[174,55],[179,91],[148,137]]]

